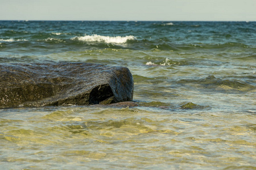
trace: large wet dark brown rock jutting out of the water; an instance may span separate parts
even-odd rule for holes
[[[92,63],[1,63],[0,108],[133,100],[129,69]]]

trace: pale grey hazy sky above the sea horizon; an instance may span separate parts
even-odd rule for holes
[[[256,21],[256,0],[0,0],[0,20]]]

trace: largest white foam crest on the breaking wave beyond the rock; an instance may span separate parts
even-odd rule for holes
[[[105,42],[105,43],[113,43],[113,44],[123,44],[127,42],[127,40],[135,40],[134,36],[101,36],[101,35],[85,35],[85,36],[76,36],[73,37],[71,40],[79,40],[79,41],[86,41],[86,42]]]

